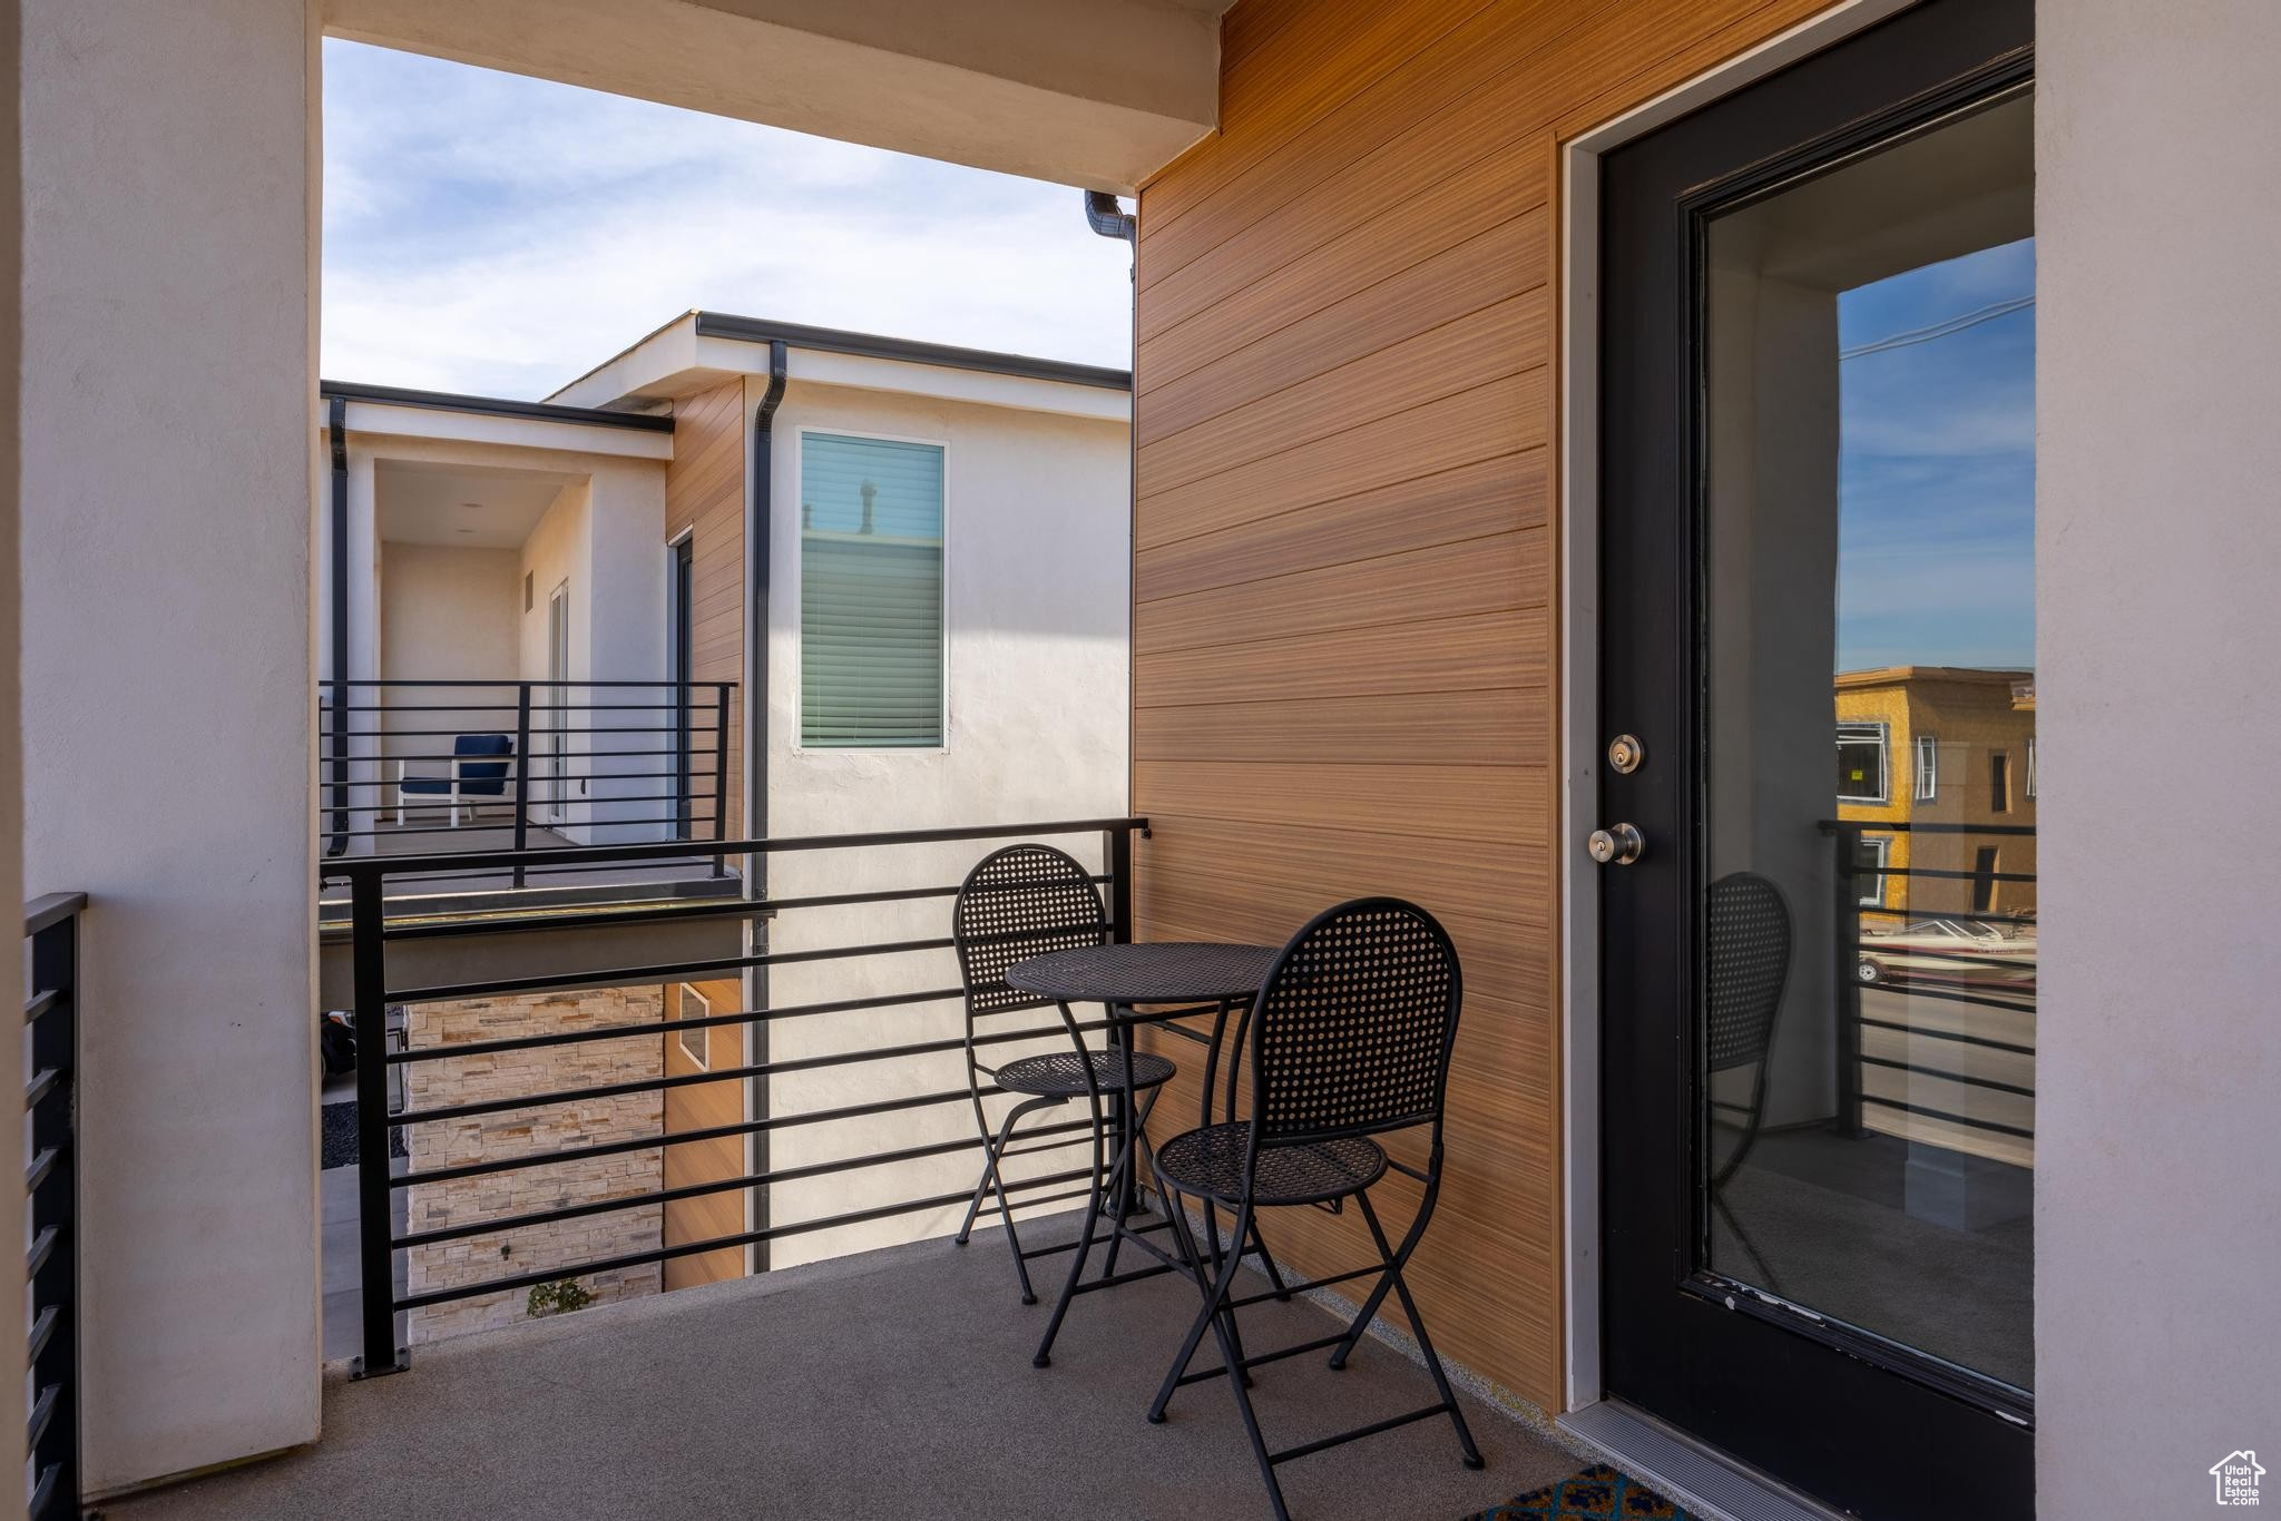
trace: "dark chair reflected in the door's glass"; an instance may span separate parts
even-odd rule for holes
[[[1734,871],[1704,894],[1704,1101],[1734,1115],[1743,1133],[1724,1161],[1708,1168],[1711,1204],[1765,1277],[1781,1293],[1775,1268],[1727,1204],[1727,1181],[1759,1142],[1765,1117],[1765,1058],[1775,1047],[1775,1017],[1791,981],[1791,905],[1756,871]],[[1711,1097],[1711,1079],[1750,1067],[1750,1099]]]

